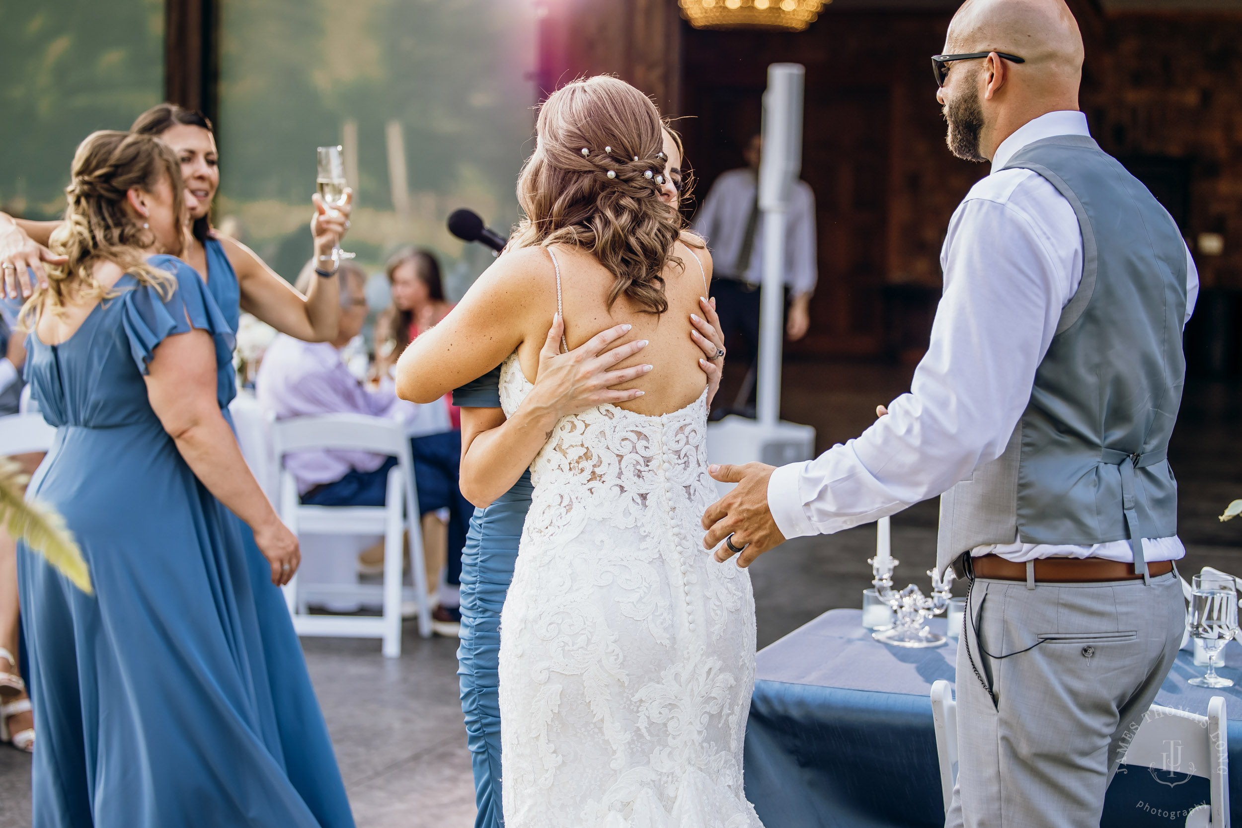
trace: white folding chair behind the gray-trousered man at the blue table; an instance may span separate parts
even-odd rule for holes
[[[940,792],[944,809],[953,801],[958,778],[958,703],[944,679],[932,685],[932,721],[940,760]],[[1158,771],[1176,771],[1207,778],[1211,804],[1199,806],[1186,817],[1186,828],[1228,828],[1230,745],[1225,696],[1212,696],[1207,716],[1151,705],[1143,724],[1125,746],[1122,761]]]

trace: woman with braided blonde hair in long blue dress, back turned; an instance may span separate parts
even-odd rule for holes
[[[183,246],[178,159],[147,135],[78,146],[68,262],[25,308],[27,379],[56,443],[29,487],[76,535],[86,595],[19,547],[40,747],[34,824],[349,827],[313,698],[274,698],[255,605],[297,539],[247,470],[221,405],[232,331]],[[235,516],[236,515],[236,516]],[[246,566],[237,519],[271,569]],[[299,690],[310,694],[309,684]],[[313,710],[282,726],[281,706]]]

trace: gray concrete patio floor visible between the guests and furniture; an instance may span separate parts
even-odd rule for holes
[[[785,416],[820,430],[818,451],[858,433],[887,402],[909,387],[909,371],[868,365],[786,366]],[[1242,521],[1216,520],[1242,497],[1242,385],[1190,382],[1170,451],[1181,485],[1184,572],[1205,565],[1242,571]],[[893,554],[900,583],[924,591],[935,559],[935,502],[893,519]],[[776,641],[820,613],[856,607],[869,586],[866,559],[874,526],[804,538],[751,567],[759,646]],[[304,639],[310,675],[332,731],[337,757],[360,828],[468,828],[474,792],[457,701],[456,641],[424,641],[406,624],[400,659],[380,657],[379,643]],[[0,828],[30,826],[30,760],[0,746]]]

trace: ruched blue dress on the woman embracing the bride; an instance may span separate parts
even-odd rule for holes
[[[501,407],[501,367],[453,391],[453,405]],[[518,541],[530,509],[530,472],[486,509],[476,509],[462,549],[462,631],[457,648],[462,713],[474,766],[474,828],[501,828],[501,705],[497,660],[501,610],[513,581]]]

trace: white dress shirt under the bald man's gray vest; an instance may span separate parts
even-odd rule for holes
[[[992,174],[971,187],[940,253],[944,297],[909,394],[859,437],[814,461],[776,469],[768,503],[785,538],[871,523],[946,492],[1005,451],[1031,400],[1035,372],[1061,310],[1082,279],[1082,232],[1073,207],[1043,176],[1001,168],[1053,135],[1089,135],[1081,112],[1051,112],[996,149]],[[1171,218],[1170,218],[1171,221]],[[1199,272],[1186,251],[1186,319]],[[1145,539],[1149,561],[1185,554],[1177,538]],[[1011,561],[1103,557],[1133,561],[1128,541],[1093,546],[979,546]]]

